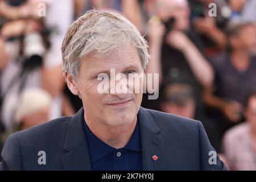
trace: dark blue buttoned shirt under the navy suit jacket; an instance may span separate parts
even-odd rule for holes
[[[123,148],[114,148],[98,139],[83,119],[93,171],[137,171],[142,170],[141,137],[139,123],[129,142]]]

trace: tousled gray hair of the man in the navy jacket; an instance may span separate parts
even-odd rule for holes
[[[148,44],[125,17],[111,11],[90,10],[69,26],[61,46],[63,72],[77,78],[82,59],[106,56],[114,48],[131,43],[146,68]]]

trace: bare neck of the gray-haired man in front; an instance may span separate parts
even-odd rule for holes
[[[94,119],[85,119],[85,121],[90,131],[102,142],[114,148],[122,148],[126,146],[131,135],[133,135],[137,123],[137,115],[131,123],[118,126],[106,125],[105,123],[94,121]]]

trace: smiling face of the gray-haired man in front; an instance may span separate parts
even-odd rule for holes
[[[100,93],[98,75],[108,75],[110,80],[119,80],[110,77],[110,69],[114,69],[115,75],[124,73],[142,73],[142,63],[137,49],[133,46],[121,46],[110,52],[103,59],[88,56],[82,62],[77,80],[77,88],[84,105],[85,119],[101,122],[109,126],[119,126],[131,123],[137,116],[142,101],[140,93]],[[138,83],[137,83],[138,84]],[[139,80],[142,85],[142,80]],[[127,85],[128,88],[128,85]],[[109,89],[110,90],[110,89]]]

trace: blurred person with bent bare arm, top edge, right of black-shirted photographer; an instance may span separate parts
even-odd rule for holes
[[[216,3],[216,17],[208,15],[210,3]],[[199,32],[204,41],[204,54],[207,57],[214,56],[226,49],[226,35],[222,31],[226,19],[224,18],[224,7],[212,0],[189,1],[191,6],[191,21],[195,30]]]

